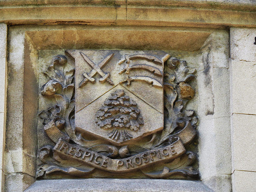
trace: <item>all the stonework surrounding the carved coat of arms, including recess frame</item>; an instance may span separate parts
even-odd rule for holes
[[[245,0],[0,1],[2,191],[254,192],[255,11]],[[196,68],[200,179],[36,180],[38,79],[66,49],[163,50]]]

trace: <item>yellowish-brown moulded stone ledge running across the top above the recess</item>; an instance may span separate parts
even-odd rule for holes
[[[240,1],[223,3],[215,0],[210,2],[205,0],[186,1],[184,3],[177,1],[131,1],[128,4],[124,0],[118,0],[117,2],[83,2],[76,6],[74,4],[77,2],[68,2],[68,6],[57,7],[43,6],[45,2],[39,1],[34,7],[26,7],[26,4],[30,5],[30,2],[10,3],[25,6],[13,6],[12,8],[4,6],[0,22],[12,22],[12,24],[171,25],[213,28],[216,26],[219,28],[224,28],[224,26],[255,26],[255,4],[248,1],[248,5],[246,5]],[[90,6],[84,6],[84,4]],[[95,4],[98,5],[95,6]],[[144,6],[140,6],[142,4]],[[223,11],[224,8],[227,10]],[[62,14],[56,14],[56,12]],[[91,14],[92,12],[94,14]],[[186,40],[191,41],[191,39]]]

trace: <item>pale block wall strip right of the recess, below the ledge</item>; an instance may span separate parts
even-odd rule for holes
[[[254,28],[230,28],[230,68],[232,71],[231,130],[232,130],[232,185],[234,191],[254,191],[256,163],[254,91],[255,48]],[[250,43],[249,40],[252,40]],[[241,134],[242,133],[242,134]]]

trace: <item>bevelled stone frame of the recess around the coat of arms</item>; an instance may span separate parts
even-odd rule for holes
[[[127,40],[125,37],[129,35],[139,35],[141,40]],[[156,38],[157,36],[161,38]],[[180,186],[180,191],[195,191],[188,189],[187,184],[198,191],[211,191],[206,186],[216,192],[231,190],[228,31],[156,26],[16,26],[9,28],[8,39],[8,111],[4,159],[6,191],[22,192],[35,182],[37,79],[40,71],[38,50],[78,48],[164,50],[176,54],[174,57],[179,58],[180,54],[179,59],[184,59],[189,64],[198,63],[195,66],[198,71],[198,94],[195,100],[198,102],[196,111],[200,121],[197,131],[201,182],[160,182],[172,188]],[[166,39],[169,42],[166,43]],[[145,46],[141,44],[143,41],[150,43]],[[189,54],[186,56],[185,53]],[[45,183],[35,182],[26,191],[38,191],[39,188],[44,191],[42,187],[52,184],[52,190],[57,192],[58,184],[61,185],[58,180],[43,182]],[[120,182],[129,188],[126,180]],[[140,186],[141,180],[134,182]],[[88,180],[88,185],[93,183],[93,179]],[[110,185],[105,183],[103,188],[107,191]],[[79,182],[76,184],[79,185]],[[154,185],[154,180],[153,183],[148,180],[145,184],[150,188],[150,185]],[[131,188],[136,189],[136,185]]]

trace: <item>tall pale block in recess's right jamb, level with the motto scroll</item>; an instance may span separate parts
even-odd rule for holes
[[[231,174],[230,117],[201,119],[197,130],[202,180],[214,174]]]

